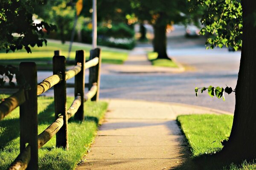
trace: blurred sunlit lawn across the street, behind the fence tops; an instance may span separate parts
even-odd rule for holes
[[[6,54],[6,51],[0,51],[0,62],[2,65],[19,65],[23,61],[36,62],[39,69],[46,67],[51,69],[52,66],[47,64],[47,61],[52,61],[55,50],[61,50],[61,55],[67,57],[68,44],[56,42],[48,42],[47,46],[32,48],[32,53],[27,53],[25,49],[18,50]],[[73,45],[70,59],[75,59],[76,50],[84,50],[86,59],[89,59],[91,48],[88,45],[78,46]],[[114,50],[111,48],[102,48],[102,63],[122,64],[128,57],[128,51]]]

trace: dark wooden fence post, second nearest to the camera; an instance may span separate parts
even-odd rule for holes
[[[68,150],[68,128],[67,128],[67,89],[66,89],[66,58],[64,56],[54,56],[53,74],[61,73],[62,80],[54,86],[54,106],[55,118],[63,116],[64,124],[56,133],[56,147],[64,147]]]

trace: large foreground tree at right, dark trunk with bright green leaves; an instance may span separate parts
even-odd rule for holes
[[[225,159],[241,161],[256,158],[256,1],[193,0],[207,7],[201,22],[202,34],[212,34],[208,47],[223,45],[241,49],[233,126],[220,153]]]

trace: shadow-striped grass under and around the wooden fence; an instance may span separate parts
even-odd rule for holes
[[[0,95],[0,98],[6,96]],[[67,98],[69,107],[73,101]],[[39,170],[72,170],[87,152],[96,134],[99,120],[107,109],[106,102],[86,102],[85,121],[70,118],[69,150],[55,147],[55,136],[39,150]],[[19,144],[19,109],[15,109],[0,121],[0,170],[6,170],[20,153]],[[46,129],[54,118],[54,99],[38,97],[38,133]]]

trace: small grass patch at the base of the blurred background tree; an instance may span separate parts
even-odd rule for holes
[[[148,52],[148,60],[154,66],[178,68],[177,64],[169,59],[157,59],[156,52]]]

